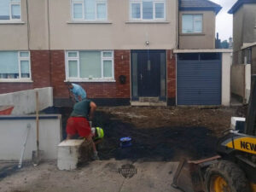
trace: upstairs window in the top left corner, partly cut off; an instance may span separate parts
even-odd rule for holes
[[[20,0],[0,0],[0,21],[21,20]]]

